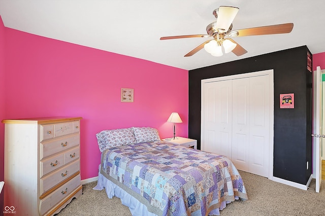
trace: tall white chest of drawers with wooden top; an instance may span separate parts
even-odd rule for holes
[[[80,119],[2,121],[5,123],[4,207],[14,209],[4,213],[53,215],[82,194]]]

